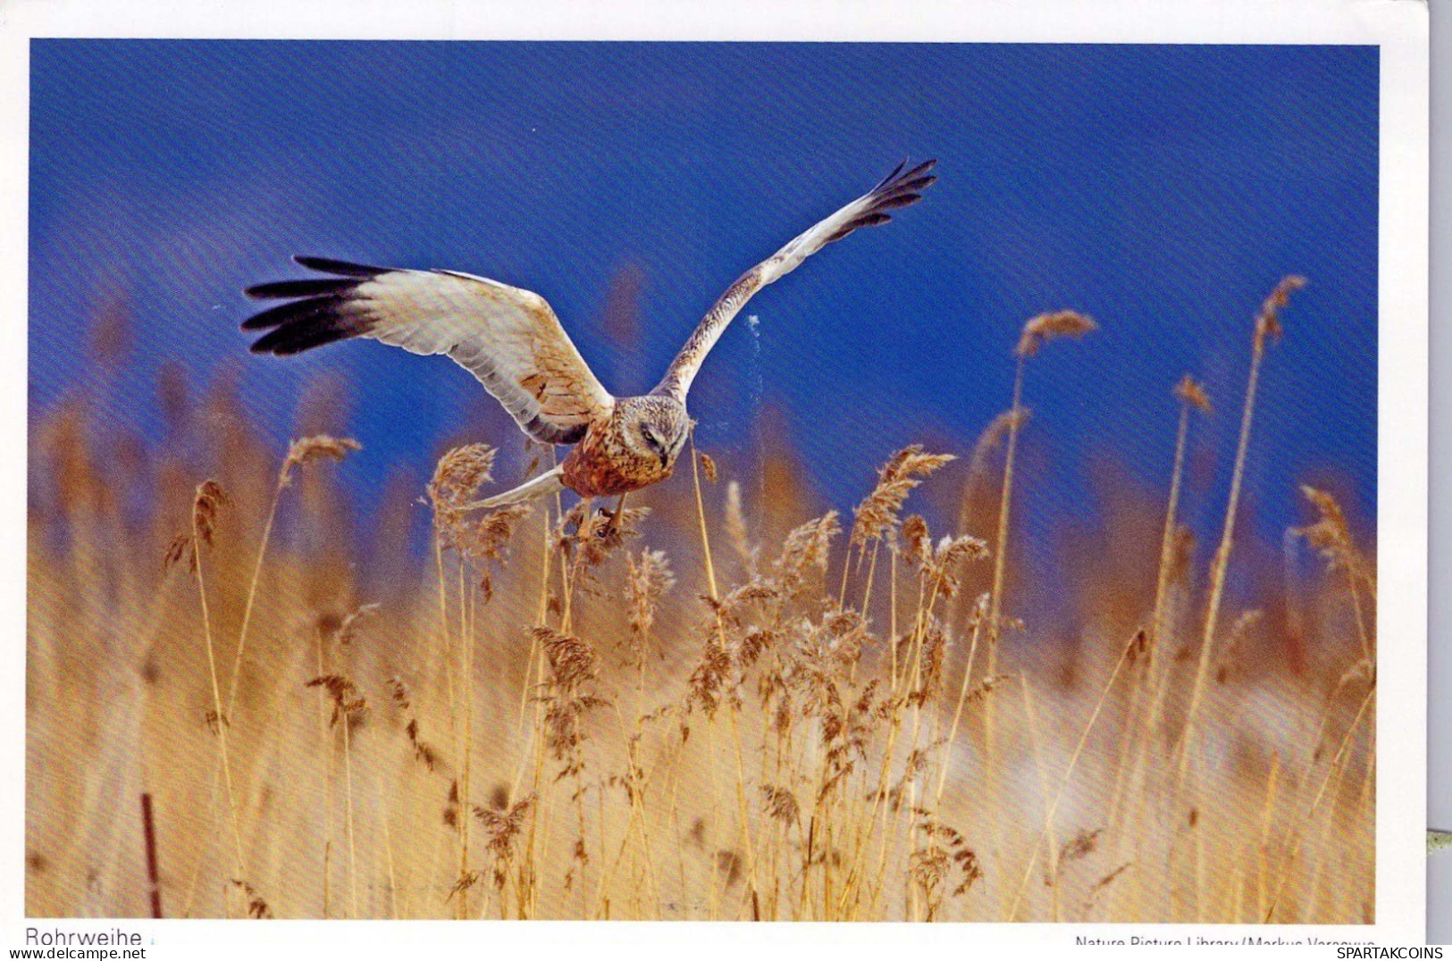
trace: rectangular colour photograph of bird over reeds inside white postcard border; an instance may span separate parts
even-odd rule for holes
[[[26,915],[1375,922],[1378,68],[32,41]]]

